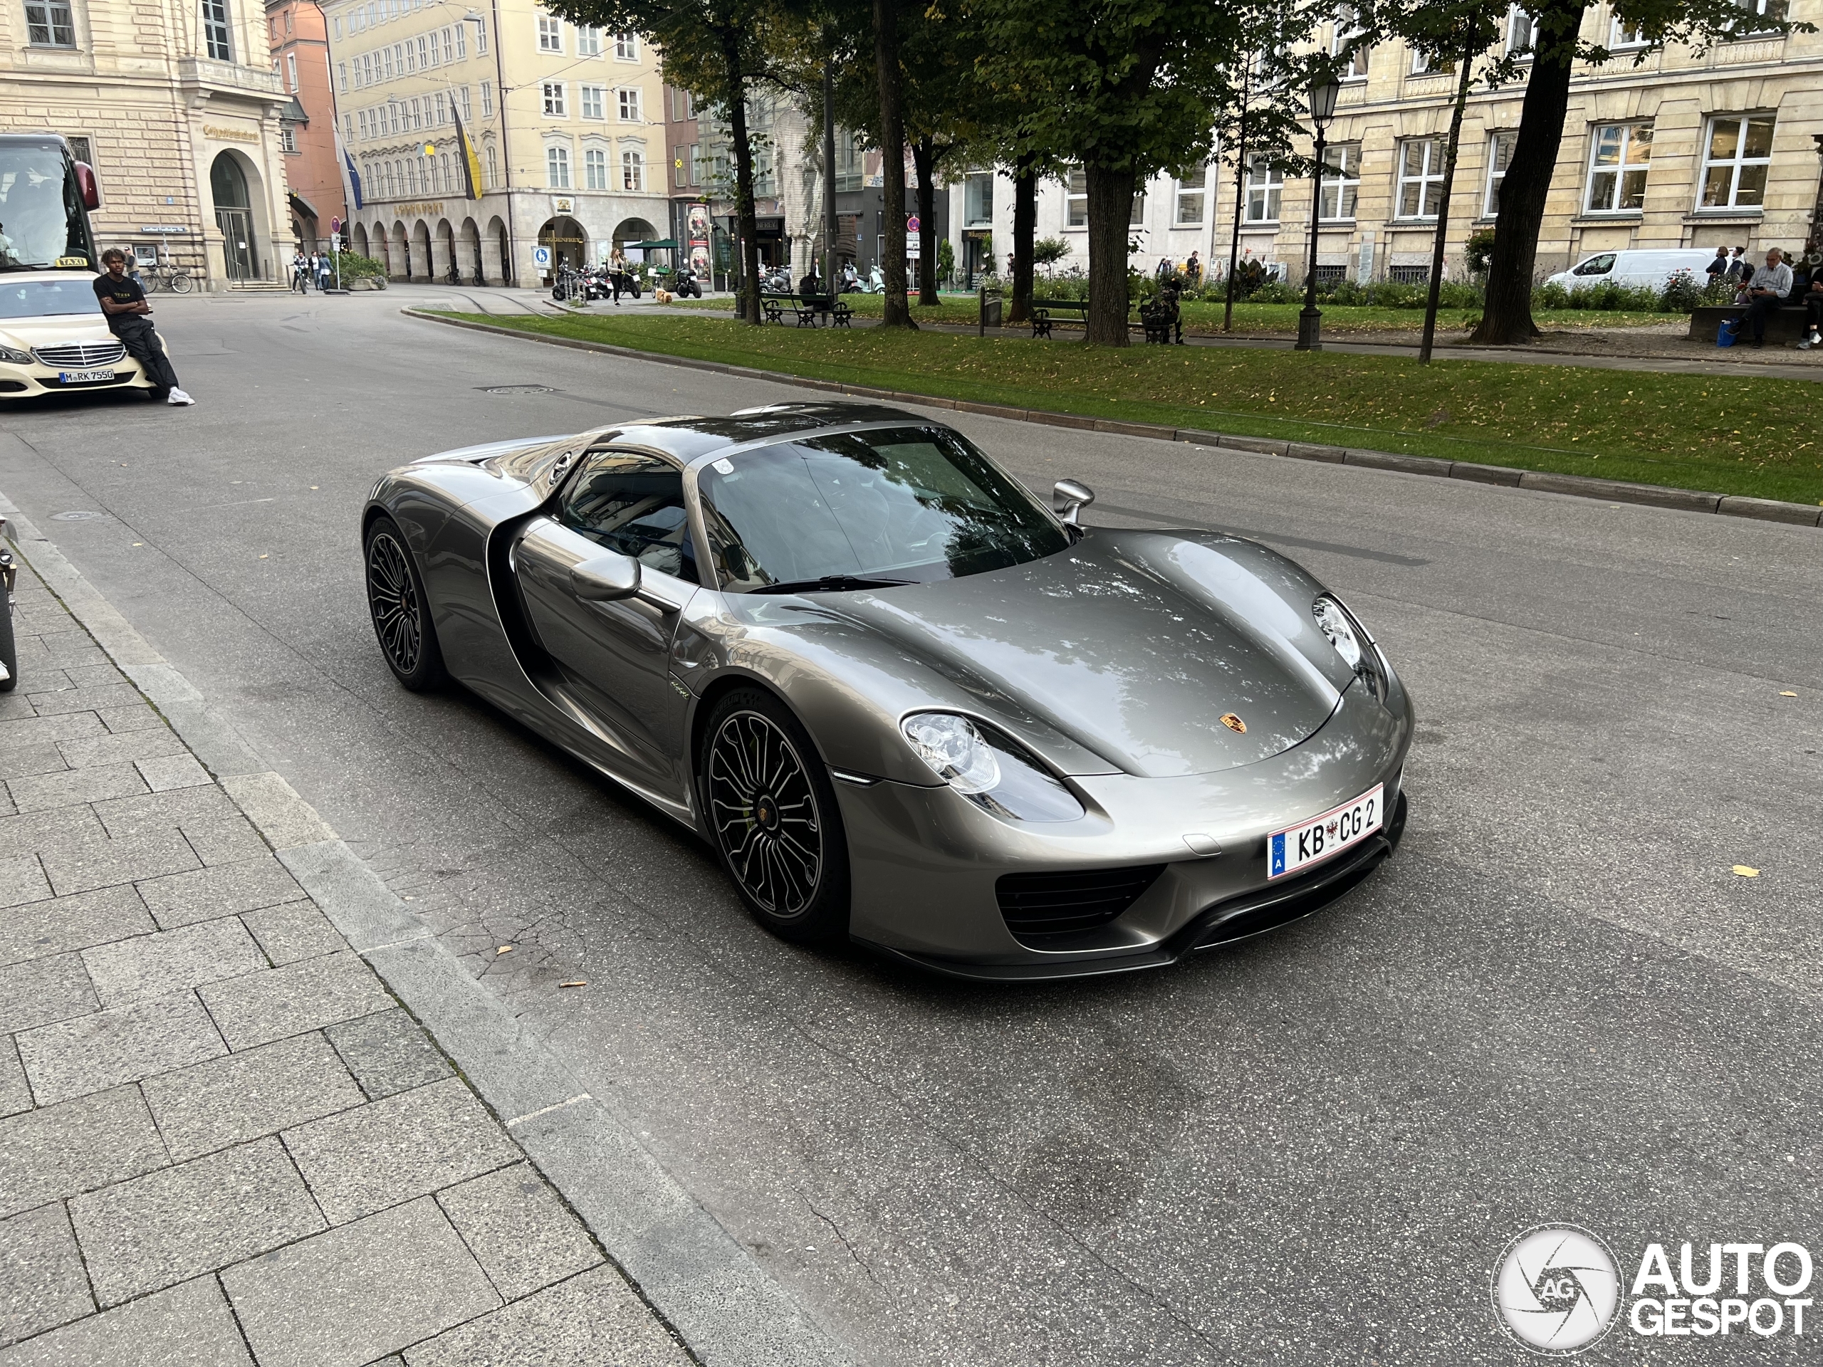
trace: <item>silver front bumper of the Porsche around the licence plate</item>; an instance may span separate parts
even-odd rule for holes
[[[1389,704],[1351,687],[1316,735],[1238,769],[1074,778],[1088,815],[1057,826],[999,822],[948,787],[839,784],[850,933],[957,977],[1048,981],[1158,968],[1309,915],[1365,879],[1402,835],[1413,718],[1402,689]],[[1384,831],[1293,879],[1267,877],[1271,831],[1375,784],[1393,813]],[[1218,853],[1207,853],[1210,840]],[[1079,933],[1015,933],[997,897],[1004,875],[1141,866],[1163,868],[1119,915]]]

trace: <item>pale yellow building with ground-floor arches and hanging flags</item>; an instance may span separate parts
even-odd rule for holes
[[[525,0],[330,0],[355,252],[394,279],[534,284],[664,237],[658,55]],[[479,177],[463,175],[458,120]],[[469,197],[469,180],[476,197]]]

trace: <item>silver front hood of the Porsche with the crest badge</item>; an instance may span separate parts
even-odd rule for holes
[[[1271,758],[1334,713],[1351,674],[1316,634],[1318,591],[1247,541],[1101,530],[990,574],[817,600],[840,598],[837,612],[963,682],[984,714],[1003,700],[1014,722],[1163,778]]]

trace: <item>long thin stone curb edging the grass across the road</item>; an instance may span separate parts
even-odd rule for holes
[[[1074,427],[1085,432],[1114,432],[1128,437],[1152,437],[1156,441],[1185,441],[1196,447],[1221,447],[1227,450],[1247,450],[1258,456],[1287,456],[1300,461],[1325,461],[1329,465],[1360,465],[1369,470],[1396,470],[1400,474],[1429,476],[1433,479],[1466,479],[1477,485],[1504,485],[1509,488],[1529,488],[1540,494],[1570,494],[1571,498],[1591,498],[1604,503],[1644,503],[1655,509],[1679,509],[1683,512],[1719,512],[1726,518],[1754,518],[1757,521],[1783,521],[1794,527],[1823,527],[1823,505],[1807,507],[1803,503],[1781,503],[1772,498],[1745,498],[1739,494],[1705,494],[1692,488],[1670,488],[1666,485],[1632,485],[1621,479],[1595,479],[1582,474],[1548,474],[1544,470],[1511,470],[1502,465],[1475,465],[1471,461],[1449,461],[1435,456],[1402,456],[1389,450],[1356,450],[1353,447],[1320,447],[1307,441],[1276,441],[1272,437],[1240,437],[1227,432],[1198,432],[1192,428],[1174,428],[1158,423],[1116,423],[1105,417],[1083,417],[1081,414],[1054,414],[1043,408],[1012,408],[999,403],[972,403],[966,399],[937,399],[928,394],[902,394],[897,390],[877,390],[866,385],[839,385],[829,379],[804,379],[782,370],[755,370],[751,366],[731,366],[720,361],[695,361],[682,355],[662,355],[642,352],[633,346],[611,346],[609,343],[582,341],[578,337],[549,337],[523,328],[505,328],[494,323],[470,323],[469,319],[447,317],[421,308],[401,308],[405,317],[441,323],[448,328],[469,328],[470,332],[492,332],[501,337],[545,343],[549,346],[569,346],[576,352],[596,352],[600,355],[620,355],[631,361],[654,361],[658,365],[684,366],[687,370],[713,370],[722,375],[740,375],[744,379],[771,379],[782,385],[797,385],[808,390],[829,390],[848,394],[857,399],[888,399],[893,403],[915,403],[921,408],[953,408],[964,414],[986,414],[988,417],[1006,417],[1015,423],[1045,423],[1050,427]]]

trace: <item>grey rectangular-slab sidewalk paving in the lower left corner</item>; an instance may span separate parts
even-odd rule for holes
[[[689,1363],[261,804],[29,570],[15,625],[0,1367]]]

